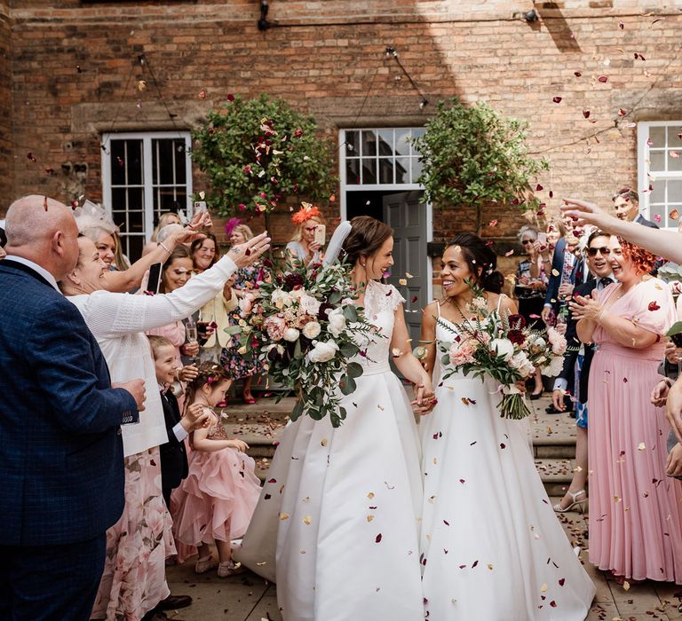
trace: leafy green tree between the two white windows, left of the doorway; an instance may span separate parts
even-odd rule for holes
[[[337,185],[332,141],[282,99],[230,96],[192,138],[192,159],[210,179],[206,202],[221,216],[270,213],[292,195],[328,200]]]

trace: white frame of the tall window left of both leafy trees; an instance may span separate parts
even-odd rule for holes
[[[186,215],[192,215],[192,160],[189,156],[192,147],[192,135],[189,131],[123,131],[102,134],[102,202],[107,213],[111,215],[111,152],[108,145],[115,140],[142,140],[142,180],[144,185],[145,241],[149,241],[154,232],[154,179],[152,178],[152,140],[156,138],[185,139],[186,169]],[[125,234],[126,232],[123,232]]]

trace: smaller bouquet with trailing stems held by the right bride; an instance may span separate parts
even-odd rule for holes
[[[500,318],[496,311],[488,311],[480,290],[474,289],[474,294],[469,305],[473,318],[456,324],[456,329],[437,319],[440,326],[454,334],[451,347],[442,348],[442,362],[448,369],[443,379],[457,371],[480,379],[488,375],[499,382],[503,393],[500,416],[525,418],[530,410],[517,384],[531,377],[536,367],[548,375],[557,375],[563,366],[566,338],[553,327],[531,330],[521,315]]]

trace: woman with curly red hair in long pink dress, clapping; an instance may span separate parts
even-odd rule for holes
[[[649,399],[661,376],[664,334],[675,321],[670,289],[648,276],[655,257],[617,237],[616,283],[570,303],[590,370],[590,561],[621,580],[682,584],[682,484],[666,476],[668,424]]]

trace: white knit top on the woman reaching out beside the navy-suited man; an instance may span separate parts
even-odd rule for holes
[[[154,358],[143,331],[189,317],[218,295],[236,270],[234,261],[225,255],[209,270],[168,295],[95,291],[67,298],[81,312],[99,342],[111,381],[145,380],[147,400],[144,412],[139,414],[139,423],[122,426],[126,457],[168,442]]]

